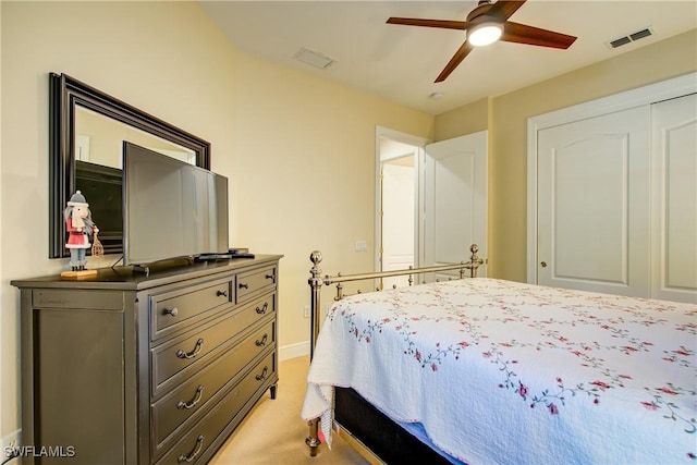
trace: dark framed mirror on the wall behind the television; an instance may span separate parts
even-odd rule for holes
[[[49,74],[49,258],[68,257],[63,210],[81,189],[107,254],[123,252],[122,140],[210,169],[210,143],[65,74]]]

